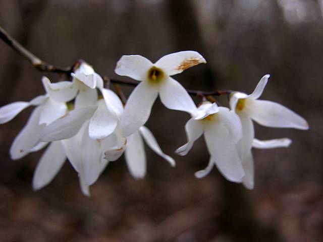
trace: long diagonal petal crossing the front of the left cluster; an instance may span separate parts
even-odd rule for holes
[[[56,141],[73,137],[95,110],[96,106],[86,106],[68,112],[41,131],[41,141]]]

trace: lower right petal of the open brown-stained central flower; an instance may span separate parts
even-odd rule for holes
[[[197,116],[197,107],[185,88],[173,78],[167,78],[159,87],[161,102],[169,109],[180,110]]]

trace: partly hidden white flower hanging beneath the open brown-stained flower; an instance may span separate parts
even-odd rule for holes
[[[118,146],[105,152],[105,159],[113,161],[118,159],[125,152],[125,159],[128,169],[134,178],[143,178],[146,174],[146,154],[143,145],[143,140],[146,144],[158,155],[167,160],[172,166],[175,166],[175,161],[172,157],[161,151],[156,139],[150,130],[142,126],[138,131],[127,138],[124,138],[117,129],[115,133]]]

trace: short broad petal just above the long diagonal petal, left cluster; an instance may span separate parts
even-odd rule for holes
[[[48,98],[47,101],[41,105],[41,107],[39,124],[49,125],[67,113],[67,106],[65,102],[58,102],[52,98]]]

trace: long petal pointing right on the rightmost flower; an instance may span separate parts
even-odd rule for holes
[[[308,129],[308,124],[303,117],[279,103],[252,100],[252,102],[249,102],[249,105],[251,118],[262,126],[300,130]]]

